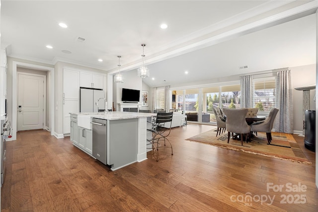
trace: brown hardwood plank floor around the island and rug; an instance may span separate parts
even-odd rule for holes
[[[18,133],[16,141],[7,142],[1,211],[318,211],[315,152],[304,147],[304,138],[294,136],[311,165],[185,141],[214,128],[174,128],[173,155],[161,148],[158,162],[148,152],[147,160],[116,171],[73,146],[69,137]],[[267,183],[284,187],[267,191]],[[296,192],[299,187],[303,190]]]

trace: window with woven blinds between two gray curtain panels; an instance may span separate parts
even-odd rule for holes
[[[270,111],[275,107],[275,78],[254,79],[254,107]]]

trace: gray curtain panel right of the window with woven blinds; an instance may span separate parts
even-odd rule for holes
[[[275,131],[294,132],[294,107],[291,71],[279,71],[276,78],[276,105],[279,109],[275,119]]]

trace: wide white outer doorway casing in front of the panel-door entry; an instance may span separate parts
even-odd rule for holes
[[[55,98],[55,92],[54,92],[54,76],[55,76],[55,69],[51,67],[46,66],[40,66],[35,64],[28,64],[28,63],[22,63],[13,61],[12,62],[12,138],[8,141],[14,141],[16,140],[16,131],[17,131],[17,67],[21,68],[27,68],[27,69],[35,69],[35,70],[41,70],[41,71],[48,71],[48,76],[50,77],[50,87],[49,87],[49,115],[50,115],[50,125],[49,128],[47,128],[47,131],[51,132],[51,136],[54,136],[54,117],[55,117],[55,110],[54,110],[54,98]]]

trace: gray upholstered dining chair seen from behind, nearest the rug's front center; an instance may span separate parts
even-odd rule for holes
[[[243,145],[243,135],[250,138],[250,126],[246,123],[245,116],[247,114],[247,108],[230,109],[223,108],[225,115],[227,116],[226,127],[228,131],[228,142],[230,141],[230,133],[240,134],[241,145]]]

